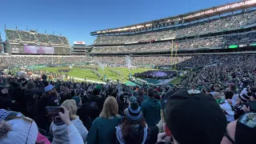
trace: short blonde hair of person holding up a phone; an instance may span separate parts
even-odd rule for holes
[[[66,107],[66,110],[70,113],[70,118],[77,118],[77,103],[74,99],[67,99],[66,101],[62,102],[62,106]]]

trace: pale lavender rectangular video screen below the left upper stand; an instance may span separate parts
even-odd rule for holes
[[[24,46],[25,54],[54,54],[54,47],[50,46]]]

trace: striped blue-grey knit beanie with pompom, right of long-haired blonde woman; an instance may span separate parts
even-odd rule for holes
[[[141,107],[138,106],[138,102],[131,103],[128,107],[126,118],[130,122],[139,122],[142,118]]]

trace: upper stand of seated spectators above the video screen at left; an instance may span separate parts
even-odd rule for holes
[[[66,37],[52,34],[38,34],[22,30],[6,29],[6,37],[10,42],[33,42],[33,43],[51,43],[55,45],[69,46],[70,43]]]

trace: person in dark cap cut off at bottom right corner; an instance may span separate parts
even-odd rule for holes
[[[254,144],[256,142],[256,114],[243,114],[237,121],[230,122],[221,144]]]

